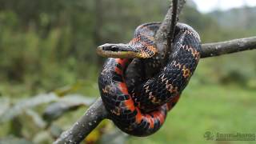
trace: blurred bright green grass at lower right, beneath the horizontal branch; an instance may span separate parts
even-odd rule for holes
[[[162,128],[150,137],[127,143],[237,143],[207,141],[206,131],[255,133],[256,90],[238,86],[199,85],[192,78]]]

